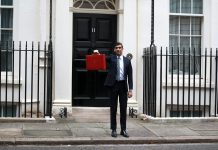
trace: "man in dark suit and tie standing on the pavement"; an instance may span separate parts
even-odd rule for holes
[[[117,101],[119,96],[120,103],[120,134],[129,137],[126,132],[126,111],[127,99],[132,97],[133,77],[131,61],[123,56],[123,44],[117,42],[114,46],[115,55],[109,57],[110,68],[104,85],[110,89],[110,120],[111,120],[111,136],[117,137]],[[127,83],[128,81],[128,83]],[[128,97],[128,98],[127,98]]]

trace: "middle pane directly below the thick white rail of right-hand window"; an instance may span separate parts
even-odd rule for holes
[[[183,35],[190,34],[190,17],[180,18],[180,34],[183,34]]]

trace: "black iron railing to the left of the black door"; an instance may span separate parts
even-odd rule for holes
[[[0,117],[51,117],[52,55],[52,43],[0,43]]]

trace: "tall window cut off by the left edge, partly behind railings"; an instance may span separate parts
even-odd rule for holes
[[[13,0],[0,0],[1,71],[12,70],[12,54],[10,51],[12,49],[13,39],[12,5]]]

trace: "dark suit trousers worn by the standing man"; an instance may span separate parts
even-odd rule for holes
[[[120,126],[121,130],[126,130],[126,111],[127,111],[127,91],[125,87],[125,81],[116,81],[113,87],[111,87],[110,92],[110,120],[111,120],[111,129],[116,130],[117,128],[117,103],[119,97],[120,103]]]

